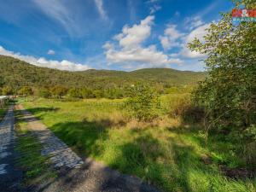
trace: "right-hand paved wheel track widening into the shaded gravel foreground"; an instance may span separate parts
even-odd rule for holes
[[[137,177],[122,174],[90,158],[80,159],[71,148],[55,137],[52,131],[32,113],[18,106],[28,127],[42,143],[42,154],[51,154],[52,163],[59,170],[59,177],[40,186],[44,192],[156,192],[154,187]],[[13,113],[9,113],[9,116]]]

